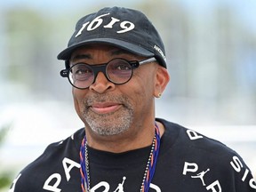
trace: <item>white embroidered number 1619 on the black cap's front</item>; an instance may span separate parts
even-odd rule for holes
[[[88,21],[88,22],[84,23],[83,26],[82,26],[82,28],[80,28],[80,30],[79,30],[78,33],[76,34],[76,37],[77,37],[77,36],[80,36],[86,27],[87,27],[87,28],[86,28],[87,31],[92,31],[92,30],[94,30],[94,29],[96,29],[96,28],[99,28],[100,25],[101,25],[101,23],[103,22],[103,19],[102,19],[102,18],[105,17],[105,16],[107,16],[107,15],[109,15],[109,12],[106,13],[106,14],[102,14],[102,15],[96,17],[96,18],[95,18],[94,20],[92,20],[91,22]],[[103,26],[103,28],[113,28],[113,25],[114,25],[116,22],[119,22],[119,21],[120,21],[120,20],[118,20],[118,19],[116,19],[116,18],[114,18],[114,17],[111,17],[110,22],[109,22],[107,25]],[[120,28],[121,28],[121,30],[116,31],[116,33],[121,34],[121,33],[128,32],[128,31],[132,30],[133,28],[135,28],[135,25],[134,25],[132,22],[125,20],[125,21],[122,21],[122,22],[120,23]]]

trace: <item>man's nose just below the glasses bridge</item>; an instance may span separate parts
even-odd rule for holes
[[[107,92],[109,90],[113,90],[115,88],[115,84],[108,81],[108,78],[104,75],[104,73],[99,72],[95,77],[95,81],[90,85],[89,90],[94,92]]]

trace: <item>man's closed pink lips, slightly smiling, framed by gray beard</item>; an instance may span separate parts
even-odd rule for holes
[[[91,105],[93,112],[97,114],[108,114],[113,113],[119,108],[122,107],[122,104],[116,102],[103,102],[103,103],[94,103]]]

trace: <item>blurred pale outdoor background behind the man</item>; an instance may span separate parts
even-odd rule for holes
[[[256,176],[256,1],[8,0],[0,2],[2,191],[50,142],[83,127],[56,56],[78,19],[114,5],[144,12],[163,37],[171,82],[156,116],[227,144]]]

